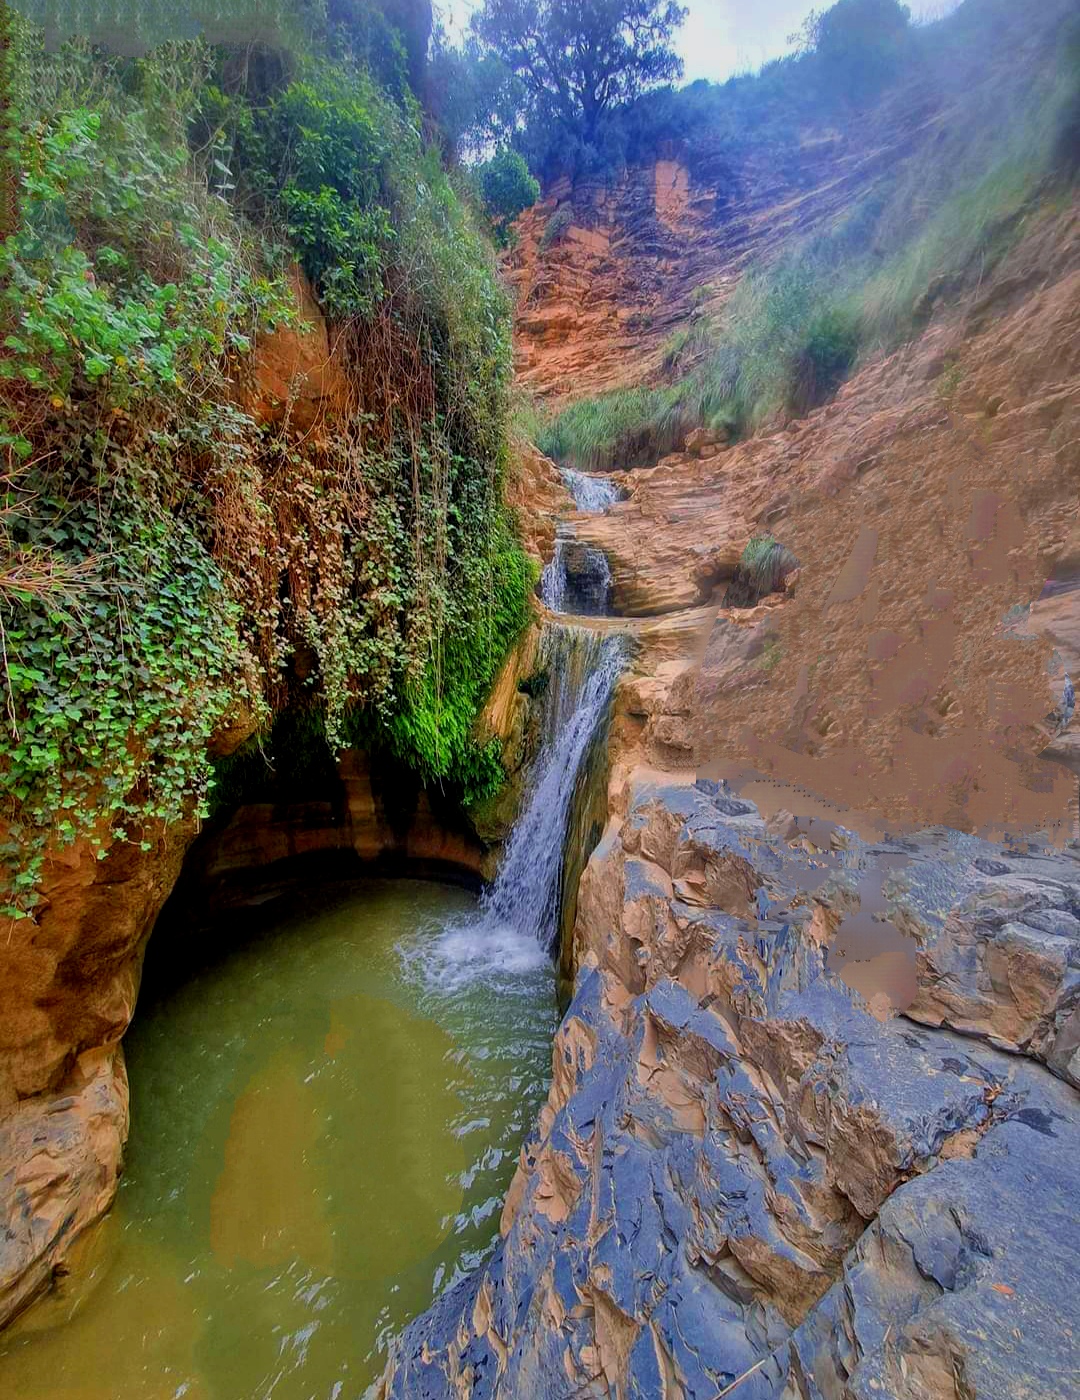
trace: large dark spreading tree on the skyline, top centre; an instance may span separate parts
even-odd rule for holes
[[[682,76],[677,0],[483,0],[473,32],[520,78],[531,118],[595,140],[608,108]]]

